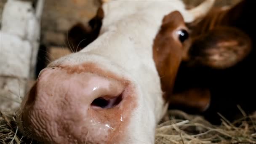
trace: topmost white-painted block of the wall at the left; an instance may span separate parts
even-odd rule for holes
[[[31,1],[8,0],[3,9],[2,31],[31,39],[38,24]]]

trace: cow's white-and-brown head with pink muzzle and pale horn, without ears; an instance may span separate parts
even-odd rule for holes
[[[213,3],[190,10],[180,0],[104,3],[90,21],[96,32],[90,43],[40,72],[17,112],[20,130],[53,144],[154,143],[188,57],[185,23],[205,16]]]

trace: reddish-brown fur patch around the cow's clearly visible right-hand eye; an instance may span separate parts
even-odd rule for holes
[[[163,18],[160,31],[154,40],[153,59],[160,76],[163,98],[166,101],[169,101],[171,96],[176,73],[184,53],[183,44],[179,41],[176,30],[185,27],[184,25],[181,14],[174,11]]]

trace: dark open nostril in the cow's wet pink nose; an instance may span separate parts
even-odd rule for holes
[[[108,98],[108,96],[99,97],[97,99],[94,99],[91,103],[91,106],[93,108],[102,108],[102,109],[108,109],[115,107],[117,104],[119,104],[122,101],[122,94],[119,96],[116,96],[115,98]]]

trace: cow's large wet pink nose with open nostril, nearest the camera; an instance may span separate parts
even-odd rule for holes
[[[118,141],[130,117],[131,91],[127,81],[47,68],[24,104],[24,131],[56,144]]]

